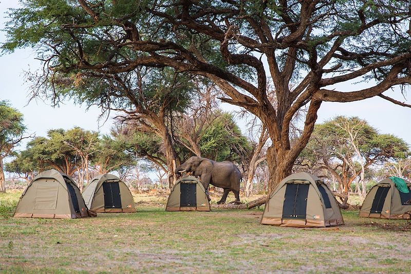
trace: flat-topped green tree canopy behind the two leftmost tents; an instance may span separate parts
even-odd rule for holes
[[[29,141],[26,149],[7,163],[6,170],[32,174],[54,168],[71,175],[81,168],[82,157],[87,157],[90,163],[108,172],[135,163],[133,156],[127,153],[128,148],[124,140],[110,136],[100,138],[97,132],[80,127],[50,130],[47,137]]]

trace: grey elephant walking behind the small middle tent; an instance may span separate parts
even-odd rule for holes
[[[207,191],[209,184],[224,189],[221,199],[217,204],[226,203],[230,191],[234,193],[235,203],[240,204],[240,181],[241,172],[230,161],[217,162],[207,158],[193,156],[176,167],[174,173],[179,175],[183,172],[199,176],[201,184]],[[210,198],[209,198],[210,199]]]

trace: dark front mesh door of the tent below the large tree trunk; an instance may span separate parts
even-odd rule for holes
[[[287,184],[283,205],[284,219],[306,218],[309,187],[308,184]]]

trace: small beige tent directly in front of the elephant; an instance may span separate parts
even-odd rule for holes
[[[195,177],[181,177],[171,191],[165,210],[210,211],[206,190]]]

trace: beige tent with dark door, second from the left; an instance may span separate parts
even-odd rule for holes
[[[88,209],[96,212],[136,212],[133,195],[119,177],[103,174],[83,190]]]

